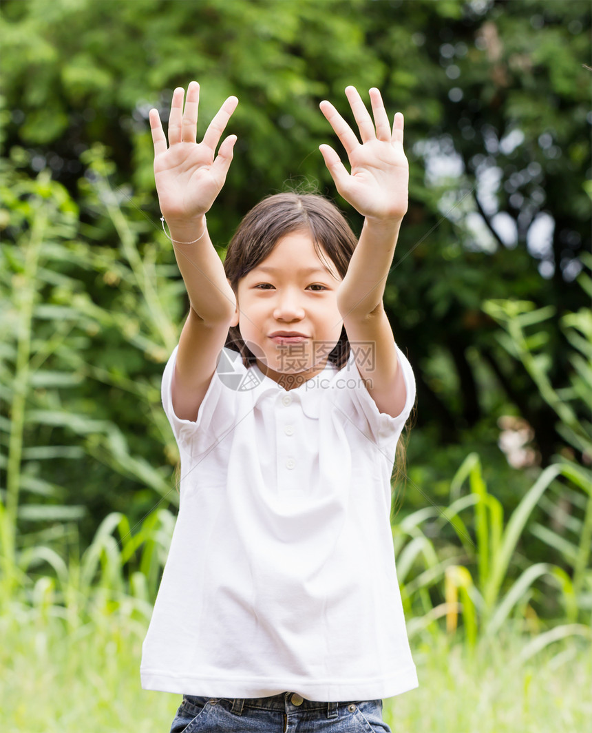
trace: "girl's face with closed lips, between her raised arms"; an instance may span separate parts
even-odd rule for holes
[[[308,232],[281,237],[240,279],[232,325],[239,325],[265,375],[290,388],[322,371],[343,326],[340,282],[337,268],[328,256],[325,262],[319,258]]]

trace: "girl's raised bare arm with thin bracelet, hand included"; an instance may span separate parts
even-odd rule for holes
[[[223,131],[237,106],[229,97],[197,143],[199,84],[175,89],[169,117],[169,144],[158,111],[150,111],[154,142],[154,172],[160,211],[169,226],[174,253],[191,308],[183,326],[173,379],[177,416],[195,420],[236,309],[234,292],[207,232],[210,210],[226,180],[236,136],[223,140]]]

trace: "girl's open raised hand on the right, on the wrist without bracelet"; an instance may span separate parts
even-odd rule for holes
[[[370,89],[374,122],[354,86],[348,86],[345,94],[362,142],[330,102],[321,102],[322,114],[341,140],[352,172],[347,172],[330,145],[319,146],[325,165],[339,194],[360,214],[377,221],[401,221],[407,212],[409,188],[409,165],[403,152],[403,115],[396,113],[391,130],[378,89]]]

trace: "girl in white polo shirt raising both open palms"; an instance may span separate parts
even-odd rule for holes
[[[381,699],[417,686],[390,527],[396,443],[415,400],[382,306],[407,210],[403,117],[347,99],[361,143],[320,146],[365,217],[358,243],[321,196],[279,194],[221,260],[205,213],[236,136],[229,97],[196,143],[199,85],[150,122],[163,218],[190,312],[163,376],[180,511],[141,663],[182,693],[171,733],[388,732]]]

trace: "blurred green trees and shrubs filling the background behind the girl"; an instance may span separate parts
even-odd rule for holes
[[[158,385],[187,303],[159,230],[147,114],[166,119],[192,78],[201,131],[240,100],[209,217],[221,254],[262,196],[336,196],[320,100],[347,117],[344,86],[378,86],[404,112],[410,210],[385,304],[418,377],[407,509],[444,503],[470,452],[508,510],[539,465],[589,463],[483,304],[552,312],[537,325],[544,378],[587,430],[559,324],[588,304],[590,30],[585,0],[4,0],[0,470],[26,542],[51,536],[41,517],[84,544],[110,511],[134,523],[176,501]],[[508,416],[531,433],[518,467],[497,445]]]

